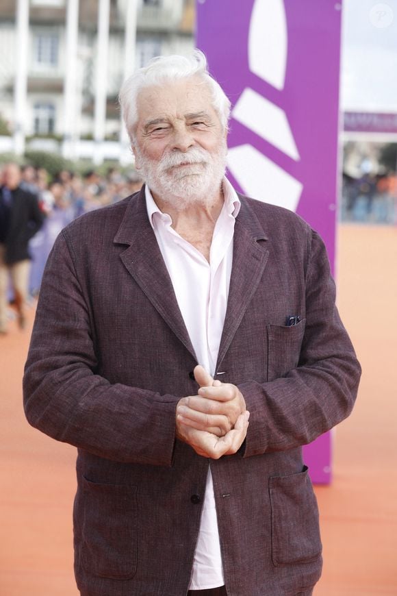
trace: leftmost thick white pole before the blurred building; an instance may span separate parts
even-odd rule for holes
[[[29,0],[16,3],[16,71],[14,82],[14,153],[25,153]]]

